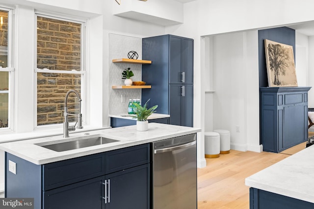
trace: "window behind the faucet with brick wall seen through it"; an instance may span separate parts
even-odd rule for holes
[[[37,126],[62,123],[65,94],[83,93],[84,28],[83,22],[37,14]],[[75,94],[67,104],[70,113],[78,113]]]

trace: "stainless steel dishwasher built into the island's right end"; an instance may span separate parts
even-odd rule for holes
[[[196,134],[153,143],[154,209],[196,209]]]

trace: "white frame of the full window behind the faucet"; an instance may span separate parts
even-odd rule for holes
[[[61,21],[68,21],[73,23],[80,23],[81,24],[81,45],[80,45],[80,71],[78,70],[49,70],[49,69],[38,69],[37,68],[37,17],[46,17],[50,19],[55,20],[61,20]],[[42,12],[42,11],[35,11],[35,41],[34,41],[34,48],[36,50],[34,54],[34,65],[36,66],[34,69],[34,113],[36,113],[36,116],[34,117],[34,127],[35,129],[42,129],[42,128],[53,128],[53,127],[60,127],[63,126],[62,123],[56,123],[56,124],[48,124],[48,125],[37,125],[37,72],[46,72],[46,73],[64,73],[64,74],[81,74],[81,93],[80,96],[82,98],[81,102],[81,112],[83,115],[83,124],[86,124],[86,19],[80,19],[77,17],[72,16],[65,16],[58,13],[48,13],[48,12]]]

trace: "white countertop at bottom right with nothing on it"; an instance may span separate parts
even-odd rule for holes
[[[245,179],[245,185],[314,203],[314,145]]]

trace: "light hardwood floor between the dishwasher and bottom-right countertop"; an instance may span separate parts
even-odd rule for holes
[[[197,169],[197,208],[249,209],[249,187],[244,184],[245,178],[304,149],[305,143],[282,153],[231,150],[230,154],[219,158],[207,158],[207,166]]]

